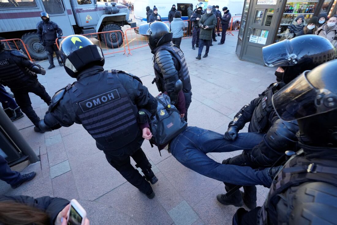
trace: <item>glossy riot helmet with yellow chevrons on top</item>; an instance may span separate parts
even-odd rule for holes
[[[101,48],[82,35],[70,35],[61,41],[60,58],[65,71],[74,78],[85,69],[104,65]]]

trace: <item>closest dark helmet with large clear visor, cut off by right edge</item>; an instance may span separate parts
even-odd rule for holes
[[[277,115],[298,120],[300,137],[313,146],[337,147],[336,71],[337,60],[305,71],[272,98]]]

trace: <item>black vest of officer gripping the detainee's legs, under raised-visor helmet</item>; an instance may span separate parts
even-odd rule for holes
[[[249,132],[265,133],[269,129],[268,117],[273,110],[272,96],[274,94],[275,84],[271,84],[267,90],[265,90],[258,101],[257,107],[255,107],[252,115],[252,119],[249,123]]]

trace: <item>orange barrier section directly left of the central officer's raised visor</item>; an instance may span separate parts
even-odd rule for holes
[[[129,28],[125,30],[125,38],[127,43],[128,54],[131,54],[131,50],[139,49],[149,45],[149,39],[147,36],[140,35],[138,33],[139,27]]]

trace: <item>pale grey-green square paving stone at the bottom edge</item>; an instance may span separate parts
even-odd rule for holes
[[[168,212],[168,215],[170,215],[176,225],[191,225],[199,219],[198,215],[186,201],[180,202],[179,205]]]

